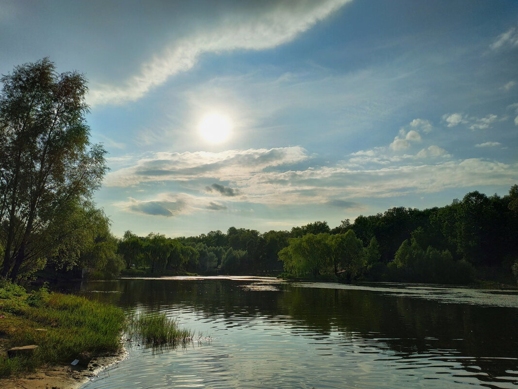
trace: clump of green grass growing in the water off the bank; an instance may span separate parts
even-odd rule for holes
[[[194,337],[194,332],[180,328],[178,323],[168,318],[165,313],[140,313],[128,316],[126,334],[129,339],[135,337],[152,346],[185,345]]]

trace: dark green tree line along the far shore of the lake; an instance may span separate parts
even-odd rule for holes
[[[518,276],[518,186],[509,195],[467,193],[449,205],[394,207],[331,229],[315,221],[290,231],[230,227],[194,237],[119,243],[126,268],[200,274],[276,274],[346,281],[511,282]],[[156,245],[161,248],[154,248]],[[153,253],[160,253],[154,255]]]

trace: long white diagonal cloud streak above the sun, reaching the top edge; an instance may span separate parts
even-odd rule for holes
[[[265,50],[295,39],[351,0],[282,2],[246,16],[229,15],[219,27],[171,43],[161,54],[142,65],[140,73],[123,86],[92,88],[89,104],[122,104],[136,101],[171,76],[189,71],[203,53],[232,50]],[[253,15],[252,17],[250,15]]]

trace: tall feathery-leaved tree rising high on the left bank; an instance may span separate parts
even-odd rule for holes
[[[69,234],[88,228],[67,216],[99,188],[106,162],[89,141],[82,74],[58,74],[44,58],[0,81],[0,274],[16,280],[26,263],[42,266]]]

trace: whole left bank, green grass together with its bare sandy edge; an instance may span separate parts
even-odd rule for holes
[[[27,293],[21,286],[3,282],[0,387],[79,386],[96,370],[124,357],[120,338],[124,321],[123,311],[112,305],[49,293],[45,287]],[[37,347],[8,357],[9,349],[28,345]],[[73,367],[70,363],[75,359],[79,363]]]

